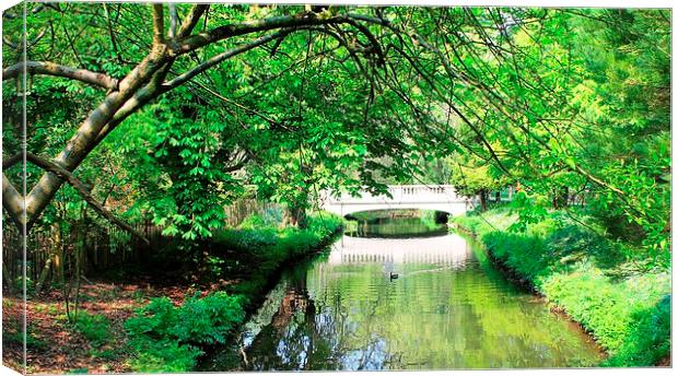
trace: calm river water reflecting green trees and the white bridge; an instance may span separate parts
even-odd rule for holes
[[[474,242],[418,219],[359,226],[285,272],[236,348],[202,368],[582,367],[604,356]]]

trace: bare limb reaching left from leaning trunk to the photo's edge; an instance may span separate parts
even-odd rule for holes
[[[26,61],[25,64],[23,62],[15,63],[2,70],[2,81],[14,79],[23,74],[24,67],[26,71],[32,74],[63,77],[108,90],[115,90],[118,86],[118,80],[104,73],[60,66],[50,61]]]

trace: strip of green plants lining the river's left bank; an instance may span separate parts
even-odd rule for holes
[[[342,219],[328,213],[311,215],[304,230],[278,228],[252,216],[238,228],[215,234],[209,272],[226,273],[234,283],[204,296],[196,294],[180,306],[161,297],[139,309],[125,322],[133,349],[131,369],[192,371],[206,350],[229,340],[285,263],[322,249],[341,226]]]

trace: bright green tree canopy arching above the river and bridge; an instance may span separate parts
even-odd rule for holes
[[[2,71],[20,227],[92,207],[197,239],[249,185],[303,210],[417,177],[519,184],[526,219],[576,193],[611,234],[670,247],[666,10],[40,3],[25,61],[20,15]],[[440,161],[452,181],[426,175]]]

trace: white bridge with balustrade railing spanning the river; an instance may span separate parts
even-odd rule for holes
[[[372,210],[420,209],[436,210],[456,216],[472,210],[479,202],[477,197],[456,193],[453,186],[413,185],[388,186],[388,196],[373,196],[360,192],[360,197],[341,195],[339,198],[327,195],[320,209],[344,216],[351,213]]]

